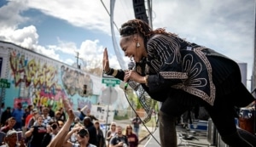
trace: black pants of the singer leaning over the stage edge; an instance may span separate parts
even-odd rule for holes
[[[161,146],[176,147],[175,122],[177,117],[181,116],[186,110],[201,105],[207,110],[212,118],[212,122],[218,129],[218,133],[226,144],[232,147],[255,147],[256,137],[241,129],[237,131],[235,122],[235,106],[246,106],[246,104],[248,105],[250,102],[253,102],[254,98],[242,84],[237,85],[237,88],[239,90],[234,89],[234,93],[217,97],[214,105],[209,105],[202,99],[182,90],[176,90],[175,93],[172,93],[172,97],[166,99],[160,108]],[[187,103],[184,102],[186,99],[188,99]]]

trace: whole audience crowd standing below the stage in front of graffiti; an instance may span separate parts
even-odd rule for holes
[[[105,137],[101,121],[90,114],[87,106],[79,109],[76,116],[67,100],[63,108],[52,110],[51,106],[33,108],[32,105],[1,111],[0,147],[136,147],[137,133],[131,125],[125,130],[116,122],[109,126]],[[134,124],[134,122],[131,122]]]

